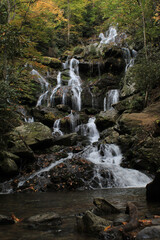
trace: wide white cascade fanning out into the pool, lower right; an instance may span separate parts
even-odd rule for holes
[[[87,128],[89,131],[87,131]],[[97,187],[144,187],[151,179],[145,174],[122,168],[122,154],[120,148],[115,144],[92,145],[99,139],[99,132],[95,125],[95,118],[90,118],[86,124],[86,131],[91,144],[84,151],[82,156],[95,164],[94,178]],[[92,183],[91,183],[92,186]]]

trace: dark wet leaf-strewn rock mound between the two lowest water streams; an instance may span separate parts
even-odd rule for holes
[[[81,158],[69,159],[55,166],[50,170],[49,175],[51,176],[49,189],[85,189],[90,187],[94,176],[94,164]]]

